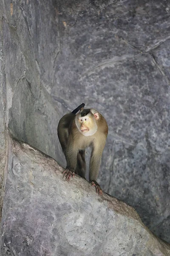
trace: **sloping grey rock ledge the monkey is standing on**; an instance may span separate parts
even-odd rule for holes
[[[29,145],[10,141],[1,256],[169,256],[136,211]]]

